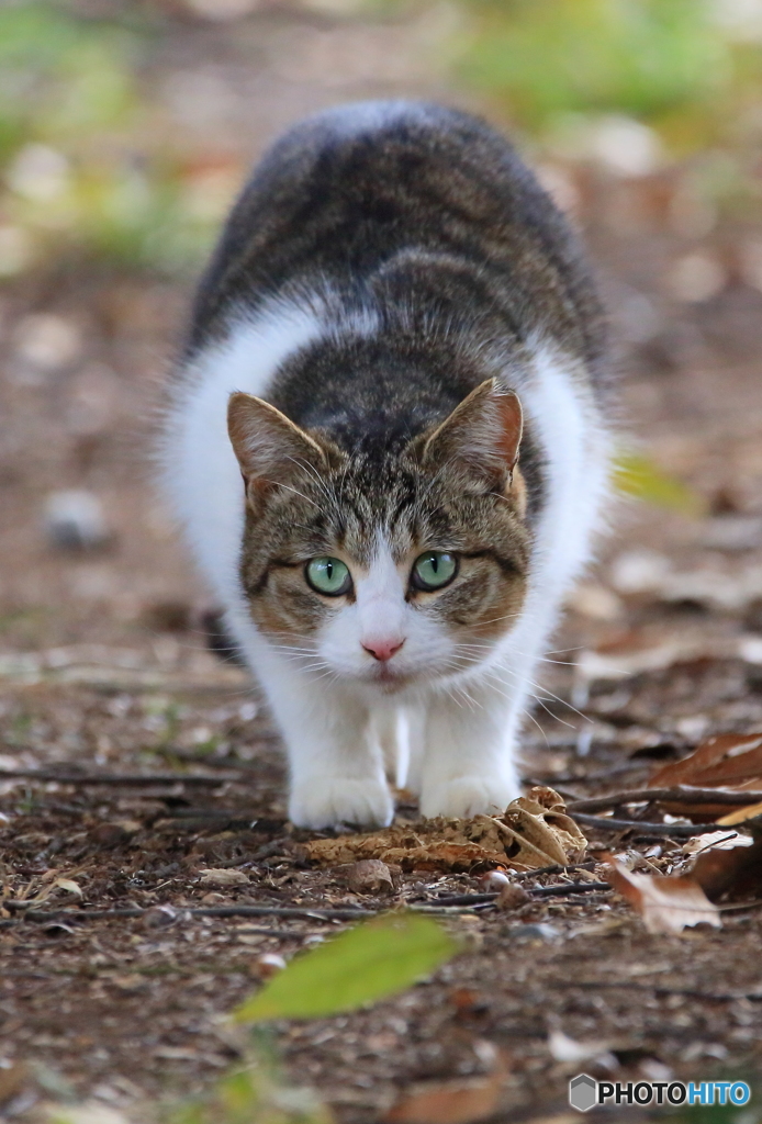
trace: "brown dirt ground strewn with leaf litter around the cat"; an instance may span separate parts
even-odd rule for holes
[[[205,127],[243,166],[288,121],[338,100],[425,93],[473,106],[429,65],[433,35],[420,16],[373,25],[263,9],[235,26],[179,20],[146,82],[162,97],[171,74],[224,80],[229,98]],[[182,127],[191,145],[194,126]],[[710,734],[762,729],[762,293],[747,263],[754,232],[741,220],[691,226],[677,173],[543,174],[600,269],[623,441],[705,509],[620,504],[559,632],[562,662],[546,665],[552,695],[527,723],[525,774],[589,796],[644,783]],[[704,291],[686,283],[691,255]],[[190,284],[80,265],[0,291],[0,769],[146,778],[0,780],[9,1118],[34,1108],[40,1082],[125,1108],[203,1088],[235,1059],[218,1016],[252,992],[262,954],[288,958],[344,923],[310,909],[482,888],[477,874],[418,871],[391,899],[363,895],[294,846],[308,836],[285,822],[276,737],[246,673],[207,650],[207,595],[151,486],[158,388]],[[46,534],[48,496],[71,488],[102,501],[109,538],[98,550],[56,549]],[[632,673],[615,679],[611,661]],[[415,822],[414,808],[401,815]],[[680,846],[647,832],[588,833],[656,864]],[[24,921],[31,898],[73,913]],[[187,913],[226,905],[301,913]],[[78,921],[92,909],[126,915]],[[484,1072],[490,1046],[506,1069],[495,1120],[561,1124],[569,1077],[598,1062],[595,1050],[584,1064],[557,1060],[553,1032],[599,1043],[601,1076],[754,1078],[761,918],[728,910],[720,931],[651,935],[601,890],[464,908],[446,924],[468,934],[468,951],[429,982],[366,1013],[283,1024],[280,1046],[344,1124],[379,1121],[410,1082]],[[3,1086],[16,1062],[37,1066],[36,1085]],[[744,1124],[760,1112],[752,1104]]]

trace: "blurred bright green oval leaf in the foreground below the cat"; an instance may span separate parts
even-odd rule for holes
[[[320,1018],[403,991],[459,951],[432,918],[387,914],[297,957],[234,1014],[238,1023]]]

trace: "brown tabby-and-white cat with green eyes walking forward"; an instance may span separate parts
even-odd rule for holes
[[[519,795],[609,472],[605,317],[511,145],[435,105],[292,127],[235,203],[164,481],[283,735],[293,824]],[[243,479],[242,479],[243,478]]]

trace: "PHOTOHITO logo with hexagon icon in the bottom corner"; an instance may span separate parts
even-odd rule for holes
[[[745,1105],[745,1081],[596,1081],[578,1073],[569,1082],[569,1104],[579,1113],[595,1105]]]

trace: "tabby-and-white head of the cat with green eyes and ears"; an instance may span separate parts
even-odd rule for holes
[[[233,395],[257,627],[305,670],[384,691],[488,659],[526,591],[521,426],[488,380],[403,447],[350,453]]]

